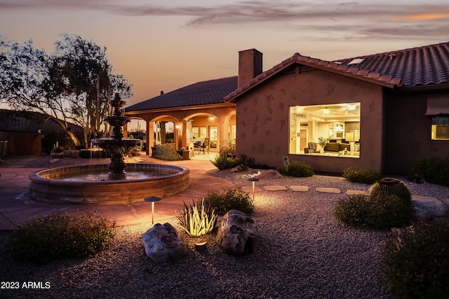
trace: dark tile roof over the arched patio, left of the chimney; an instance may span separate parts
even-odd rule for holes
[[[237,88],[237,76],[201,81],[126,107],[126,112],[223,103]]]

